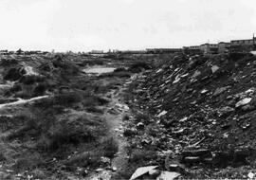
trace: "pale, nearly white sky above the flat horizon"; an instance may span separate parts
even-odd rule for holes
[[[0,0],[0,49],[182,47],[252,38],[255,0]]]

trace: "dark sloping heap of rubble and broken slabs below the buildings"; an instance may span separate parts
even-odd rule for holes
[[[184,167],[185,178],[254,177],[253,55],[179,55],[134,83],[130,104],[149,118],[134,121],[133,143],[155,148],[161,160],[152,165]]]

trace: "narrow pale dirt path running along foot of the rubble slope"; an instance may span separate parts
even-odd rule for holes
[[[128,156],[125,147],[128,144],[126,138],[122,135],[124,130],[124,122],[122,119],[125,115],[131,115],[131,112],[127,104],[123,102],[122,93],[124,90],[125,85],[109,93],[108,97],[111,97],[112,100],[103,115],[109,128],[108,136],[113,137],[118,142],[119,152],[112,159],[110,170],[94,172],[88,177],[90,180],[109,180],[115,173],[124,170],[127,166]]]

